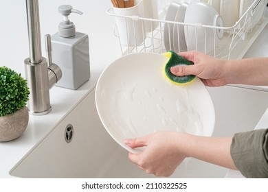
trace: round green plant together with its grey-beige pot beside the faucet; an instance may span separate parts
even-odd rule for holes
[[[23,134],[29,121],[27,81],[8,67],[0,67],[0,141]]]

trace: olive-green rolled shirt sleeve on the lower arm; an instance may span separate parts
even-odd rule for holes
[[[268,178],[268,129],[234,134],[234,165],[246,178]]]

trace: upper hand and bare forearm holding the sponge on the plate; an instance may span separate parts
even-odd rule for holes
[[[194,64],[172,67],[170,71],[174,75],[196,75],[206,86],[226,84],[268,86],[268,57],[224,60],[199,51],[181,52],[179,55]]]

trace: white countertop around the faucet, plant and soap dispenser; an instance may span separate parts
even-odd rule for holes
[[[89,35],[91,79],[77,91],[54,86],[50,90],[52,112],[40,117],[30,115],[27,129],[19,139],[0,143],[0,178],[12,177],[8,173],[10,169],[94,88],[100,73],[119,56],[118,38],[113,35],[115,21],[106,14],[111,7],[109,0],[39,1],[43,56],[46,56],[43,37],[57,32],[62,19],[58,6],[68,3],[84,12],[69,18],[76,25],[76,31]],[[24,60],[29,57],[25,1],[5,1],[1,5],[0,63],[24,77]]]

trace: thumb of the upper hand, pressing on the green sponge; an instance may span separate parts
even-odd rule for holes
[[[173,75],[176,76],[185,76],[185,75],[198,75],[197,67],[192,65],[177,65],[170,68],[170,71]]]

